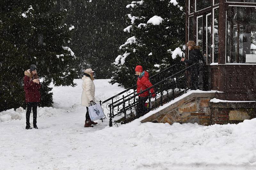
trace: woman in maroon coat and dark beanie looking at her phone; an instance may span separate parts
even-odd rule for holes
[[[27,103],[27,112],[26,112],[26,129],[32,129],[29,123],[29,117],[31,109],[33,110],[33,126],[35,129],[38,129],[36,126],[36,114],[37,114],[37,105],[40,102],[41,95],[39,89],[41,84],[39,82],[39,77],[37,75],[37,67],[32,64],[30,70],[24,72],[24,90]]]

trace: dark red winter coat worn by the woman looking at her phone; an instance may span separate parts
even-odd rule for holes
[[[24,90],[26,103],[28,102],[40,102],[41,95],[39,89],[41,88],[41,83],[34,83],[33,80],[30,80],[30,72],[24,72]],[[32,78],[33,79],[33,78]]]

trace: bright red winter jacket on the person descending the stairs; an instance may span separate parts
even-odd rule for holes
[[[140,93],[143,90],[148,89],[149,87],[152,86],[151,82],[148,80],[148,72],[144,71],[144,75],[137,80],[137,93]],[[150,89],[150,93],[152,94],[153,97],[156,96],[154,93],[154,88]],[[148,91],[145,91],[144,93],[140,94],[140,97],[147,97],[149,95]]]

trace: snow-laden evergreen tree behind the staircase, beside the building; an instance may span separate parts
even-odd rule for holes
[[[128,88],[135,84],[134,69],[141,65],[149,74],[173,65],[172,53],[185,41],[185,2],[143,0],[127,5],[131,25],[124,29],[132,37],[120,46],[120,53],[112,64],[116,68],[111,83]],[[155,65],[161,65],[159,68]]]

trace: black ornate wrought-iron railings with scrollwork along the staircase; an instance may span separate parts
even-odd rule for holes
[[[127,122],[134,120],[135,118],[138,118],[139,116],[142,116],[136,113],[135,108],[138,104],[138,96],[144,93],[145,91],[149,91],[150,89],[154,88],[156,97],[151,98],[151,94],[149,93],[150,95],[148,96],[148,99],[146,101],[144,113],[156,109],[162,106],[164,103],[168,103],[174,98],[186,93],[186,91],[190,89],[188,82],[189,77],[187,75],[189,75],[190,68],[195,67],[195,65],[197,64],[193,64],[186,68],[183,66],[180,67],[180,69],[178,69],[178,65],[174,65],[163,70],[162,72],[159,72],[154,76],[151,76],[150,81],[154,82],[154,85],[152,87],[145,89],[140,93],[137,93],[135,90],[136,85],[134,85],[131,88],[126,89],[115,96],[112,96],[104,102],[100,102],[101,104],[103,104],[110,101],[110,103],[108,103],[106,106],[106,109],[109,111],[109,126],[112,126],[113,123],[116,124],[117,120],[119,120],[120,122],[120,119],[121,124],[125,124]],[[168,74],[163,74],[163,72],[170,70],[170,68],[172,68],[172,73],[174,74],[172,74],[171,76],[168,76]],[[156,77],[159,74],[163,74],[164,78],[163,76],[159,76],[159,80]],[[202,79],[200,77],[202,77],[202,74],[199,74],[199,80]],[[200,84],[202,83],[199,83],[199,86]],[[117,120],[114,119],[115,117],[118,117]]]

